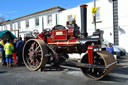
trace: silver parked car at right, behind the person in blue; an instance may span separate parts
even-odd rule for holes
[[[103,44],[105,44],[106,46],[111,43],[107,40],[104,40]],[[112,44],[112,43],[111,43]],[[126,50],[118,45],[114,45],[112,44],[113,48],[114,48],[114,55],[117,56],[117,58],[120,58],[120,56],[124,56],[126,55]]]

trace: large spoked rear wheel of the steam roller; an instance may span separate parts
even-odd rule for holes
[[[23,48],[23,61],[29,70],[37,71],[45,67],[47,63],[48,49],[46,44],[39,39],[28,40]]]

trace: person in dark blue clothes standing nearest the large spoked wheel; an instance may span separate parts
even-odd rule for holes
[[[18,65],[19,66],[21,66],[23,64],[23,59],[22,59],[23,46],[24,46],[24,41],[22,41],[22,37],[20,37],[16,43],[16,49],[17,49],[17,55],[18,55]]]

